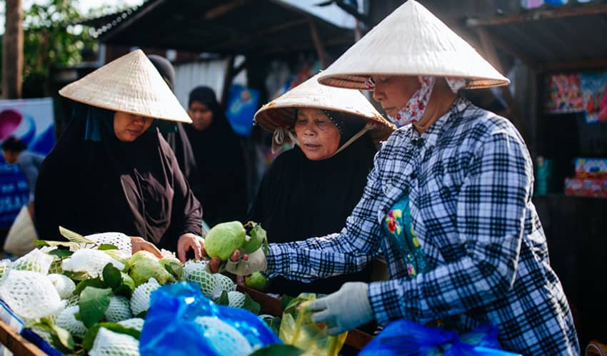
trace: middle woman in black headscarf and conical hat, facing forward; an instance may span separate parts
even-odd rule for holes
[[[361,93],[322,86],[316,76],[264,105],[255,121],[275,133],[273,148],[289,138],[296,143],[276,157],[249,211],[250,220],[261,223],[271,243],[341,228],[373,168],[373,137],[377,142],[395,129]],[[369,275],[370,268],[312,283],[277,277],[271,291],[294,296],[333,293],[347,281],[368,281]]]

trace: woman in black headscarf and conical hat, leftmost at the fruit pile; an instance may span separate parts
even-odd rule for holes
[[[76,101],[36,185],[36,227],[88,235],[116,231],[132,250],[199,256],[202,209],[160,131],[190,118],[141,50],[59,91]]]

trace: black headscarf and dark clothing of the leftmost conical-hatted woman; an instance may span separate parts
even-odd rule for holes
[[[175,251],[181,234],[201,233],[200,204],[156,126],[126,143],[113,120],[113,111],[76,104],[40,168],[39,236],[62,240],[59,225],[84,235],[116,231]]]

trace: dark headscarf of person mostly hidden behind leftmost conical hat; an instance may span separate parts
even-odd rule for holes
[[[174,91],[175,68],[173,68],[171,62],[169,62],[166,58],[156,56],[155,54],[150,54],[148,59],[152,62],[152,64],[154,64],[156,70],[169,85],[169,88]],[[186,135],[186,131],[184,130],[184,125],[182,123],[175,123],[175,126],[175,131],[163,132],[162,136],[164,136],[166,142],[169,143],[169,146],[171,146],[173,153],[175,153],[175,157],[177,158],[181,172],[184,173],[186,180],[190,182],[193,178],[194,171],[196,171],[194,152],[192,152],[192,146],[190,145],[190,141]]]

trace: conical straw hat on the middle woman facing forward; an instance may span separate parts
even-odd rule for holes
[[[323,86],[318,83],[318,74],[262,106],[255,113],[255,122],[270,132],[279,126],[292,128],[297,108],[319,108],[360,116],[374,124],[369,133],[376,142],[396,130],[396,126],[383,118],[360,91]]]

